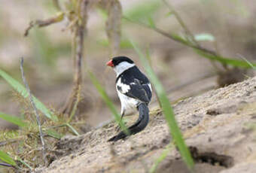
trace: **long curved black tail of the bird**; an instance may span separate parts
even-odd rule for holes
[[[145,127],[148,125],[149,120],[149,110],[148,105],[145,103],[141,103],[138,105],[138,111],[139,111],[139,119],[136,121],[136,123],[133,124],[133,126],[130,126],[128,128],[130,135],[134,135],[138,132],[141,132]],[[126,138],[125,132],[120,132],[118,135],[115,135],[113,138],[108,139],[108,141],[118,141],[119,139]]]

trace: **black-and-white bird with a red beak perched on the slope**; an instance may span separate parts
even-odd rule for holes
[[[139,70],[132,59],[126,56],[116,56],[109,60],[106,65],[113,68],[117,74],[115,86],[121,104],[121,119],[128,111],[139,111],[139,118],[128,128],[128,134],[121,131],[108,139],[108,141],[118,141],[128,135],[141,132],[148,125],[148,104],[151,102],[152,87],[148,77]]]

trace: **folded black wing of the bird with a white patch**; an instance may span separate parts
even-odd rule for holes
[[[147,90],[150,91],[148,84],[141,84],[138,79],[134,79],[133,83],[127,87],[124,86],[126,90],[123,90],[122,84],[117,85],[117,90],[123,93],[125,96],[132,97],[133,99],[139,99],[142,102],[149,103],[151,96],[148,96]]]

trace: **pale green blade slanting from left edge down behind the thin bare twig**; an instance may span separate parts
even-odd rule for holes
[[[29,96],[29,93],[26,91],[26,88],[22,84],[20,84],[17,80],[15,80],[13,77],[11,77],[9,74],[5,73],[5,71],[2,71],[1,69],[0,76],[2,76],[14,88],[14,90],[20,93],[21,96],[23,96],[24,98],[27,98]],[[44,115],[51,120],[58,120],[57,117],[54,116],[53,113],[49,109],[47,109],[43,103],[36,99],[35,96],[32,97],[38,110],[44,113]]]

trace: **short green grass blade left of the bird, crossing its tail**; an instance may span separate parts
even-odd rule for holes
[[[125,132],[126,134],[129,134],[128,129],[126,128],[125,124],[123,123],[123,120],[120,118],[120,114],[117,113],[117,110],[114,108],[114,104],[111,101],[111,99],[108,97],[108,94],[105,92],[104,88],[99,83],[99,80],[94,76],[94,74],[88,70],[88,74],[90,76],[90,80],[92,80],[93,85],[98,90],[100,96],[102,96],[102,99],[104,100],[105,104],[108,106],[112,114],[114,115],[114,120],[120,125],[120,128]]]

